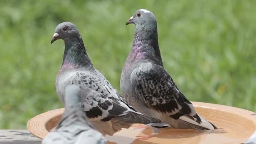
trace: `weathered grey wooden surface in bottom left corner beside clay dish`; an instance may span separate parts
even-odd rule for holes
[[[28,130],[0,130],[0,144],[41,144]]]

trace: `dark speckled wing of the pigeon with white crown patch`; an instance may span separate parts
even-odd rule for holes
[[[185,116],[198,124],[202,122],[193,105],[179,91],[171,76],[162,66],[150,62],[141,63],[140,67],[131,73],[131,85],[134,85],[135,91],[143,97],[143,103],[148,108],[165,113],[171,118],[189,125],[193,124],[180,119],[180,117]],[[197,129],[208,129],[196,126]]]

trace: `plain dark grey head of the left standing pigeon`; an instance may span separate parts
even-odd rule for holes
[[[72,24],[71,22],[68,22],[68,21],[63,22],[56,27],[51,43],[59,39],[62,39],[65,41],[65,39],[67,39],[68,37],[78,37],[78,36],[80,36],[80,33],[77,29],[77,26],[75,26],[75,24]]]

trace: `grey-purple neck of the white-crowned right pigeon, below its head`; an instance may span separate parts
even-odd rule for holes
[[[162,64],[158,46],[157,24],[150,27],[145,27],[144,25],[136,27],[129,56],[131,60],[135,61],[149,59],[157,64]]]

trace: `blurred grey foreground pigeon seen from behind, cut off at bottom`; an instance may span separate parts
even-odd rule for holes
[[[65,103],[60,123],[48,133],[42,144],[107,144],[102,134],[87,123],[77,85],[67,86]]]

